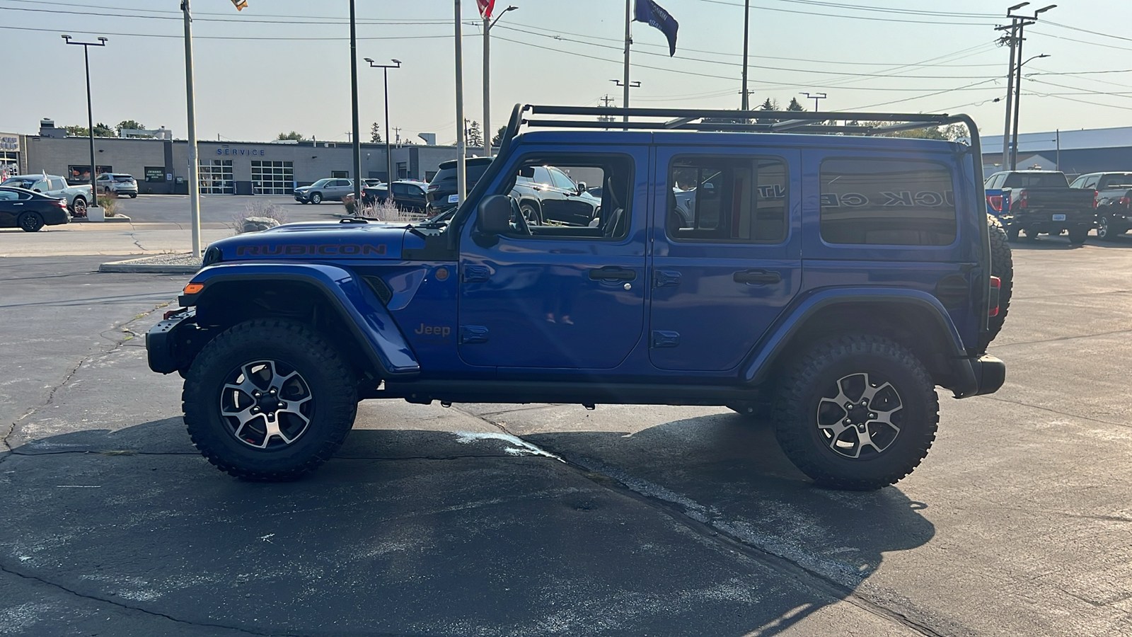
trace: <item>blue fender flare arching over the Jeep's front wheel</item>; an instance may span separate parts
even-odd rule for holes
[[[229,263],[205,267],[192,278],[204,289],[182,295],[183,307],[207,298],[222,282],[299,281],[314,286],[342,317],[381,377],[404,377],[420,373],[420,363],[409,341],[377,296],[353,272],[318,263]]]

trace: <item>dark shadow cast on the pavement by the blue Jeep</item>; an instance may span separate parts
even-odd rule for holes
[[[27,634],[122,628],[75,596],[271,635],[895,634],[863,584],[933,537],[923,508],[816,489],[730,415],[631,436],[358,430],[275,484],[217,472],[166,418],[0,455],[0,575],[19,578],[0,591],[40,609]]]

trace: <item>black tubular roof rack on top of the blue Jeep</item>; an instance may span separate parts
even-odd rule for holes
[[[608,107],[517,107],[518,122],[530,127],[619,130],[722,130],[749,133],[852,133],[885,135],[901,130],[967,124],[969,117],[947,113],[732,111],[723,109],[618,109]],[[533,116],[569,116],[544,119]],[[586,119],[582,119],[586,118]],[[590,119],[592,118],[592,119]],[[602,119],[598,119],[602,118]],[[843,124],[837,124],[841,121]],[[876,122],[884,122],[877,125]]]

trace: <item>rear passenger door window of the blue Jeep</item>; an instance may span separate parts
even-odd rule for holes
[[[668,236],[765,244],[786,239],[787,170],[774,158],[685,155],[669,167]]]

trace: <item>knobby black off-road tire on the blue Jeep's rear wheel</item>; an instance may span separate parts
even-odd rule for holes
[[[829,402],[823,404],[823,397],[852,393],[851,388],[846,389],[851,384],[846,379],[861,374],[867,374],[863,387],[872,383],[871,379],[883,381],[875,383],[880,389],[868,400],[867,409],[878,409],[881,402],[887,407],[898,406],[884,413],[891,413],[887,417],[898,422],[899,432],[880,452],[874,452],[874,448],[866,453],[865,445],[859,444],[860,457],[850,458],[833,449],[833,442],[839,439],[826,438],[823,432],[829,430],[823,430],[818,423],[830,409]],[[895,402],[885,384],[894,390]],[[818,485],[854,491],[887,486],[911,473],[935,440],[940,423],[935,384],[911,351],[884,337],[855,334],[821,342],[789,366],[779,387],[774,408],[775,436],[790,461]],[[850,417],[848,409],[842,411],[846,418]],[[875,415],[867,414],[869,417]],[[842,422],[840,416],[833,421]],[[872,422],[866,424],[871,436],[882,433],[874,433],[874,426],[881,427]],[[846,433],[854,430],[848,427]],[[883,428],[883,432],[891,432],[891,428]]]

